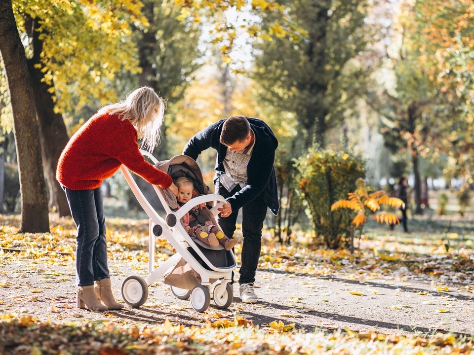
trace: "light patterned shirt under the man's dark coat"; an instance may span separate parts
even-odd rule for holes
[[[226,173],[222,174],[219,180],[227,191],[232,191],[237,185],[243,188],[247,184],[247,166],[254,145],[255,140],[244,150],[238,152],[230,151],[227,148],[226,158],[223,161]]]

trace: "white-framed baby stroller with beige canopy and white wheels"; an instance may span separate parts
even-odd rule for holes
[[[179,299],[190,298],[191,306],[197,312],[204,312],[210,304],[211,286],[216,283],[212,290],[214,303],[218,308],[228,308],[234,298],[233,287],[230,284],[232,271],[237,266],[234,253],[232,250],[225,250],[222,245],[211,247],[199,241],[196,242],[191,239],[180,222],[184,214],[202,203],[215,202],[215,206],[210,209],[210,212],[215,217],[219,213],[217,208],[221,206],[222,203],[225,203],[226,200],[221,195],[206,194],[209,192],[209,188],[203,183],[202,173],[194,159],[185,155],[178,155],[168,161],[158,162],[158,160],[147,151],[141,150],[141,152],[144,156],[148,157],[158,169],[170,175],[173,180],[181,176],[186,176],[186,173],[183,173],[183,171],[191,171],[191,173],[194,174],[192,179],[194,180],[193,182],[195,182],[195,189],[198,194],[204,193],[205,195],[197,196],[188,201],[179,208],[179,210],[173,211],[169,206],[169,204],[171,204],[173,207],[173,203],[170,203],[172,201],[170,201],[169,191],[153,185],[159,201],[166,212],[166,217],[163,219],[145,198],[129,170],[124,165],[120,167],[133,194],[150,217],[148,245],[148,269],[150,274],[146,279],[138,275],[127,277],[121,287],[123,300],[132,307],[140,307],[147,300],[148,286],[156,282],[160,277],[169,274],[177,267],[182,267],[184,262],[184,264],[188,264],[188,268],[197,275],[197,282],[191,286],[189,283],[181,285],[183,288],[177,285],[171,285],[170,288],[173,295]],[[195,178],[200,179],[200,183],[196,181]],[[204,191],[199,191],[199,186],[203,186]],[[175,199],[174,196],[171,197]],[[217,223],[216,225],[218,226]],[[165,238],[177,252],[159,265],[158,268],[154,269],[155,238],[157,237]]]

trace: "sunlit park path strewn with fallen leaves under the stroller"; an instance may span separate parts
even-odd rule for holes
[[[73,263],[71,262],[71,265]],[[436,331],[474,334],[474,302],[469,287],[440,286],[422,276],[367,277],[357,270],[317,276],[276,269],[257,271],[257,304],[244,304],[234,285],[234,302],[228,310],[211,306],[205,313],[193,310],[188,300],[173,297],[161,280],[150,286],[140,308],[126,307],[108,313],[76,308],[74,274],[64,266],[35,264],[11,259],[0,269],[0,314],[33,315],[41,320],[116,320],[161,323],[168,319],[199,325],[219,317],[243,317],[260,327],[273,320],[295,323],[298,329],[335,328],[368,332],[410,334]],[[120,284],[127,276],[146,271],[110,262],[112,282],[121,301]],[[352,292],[352,293],[351,293]]]

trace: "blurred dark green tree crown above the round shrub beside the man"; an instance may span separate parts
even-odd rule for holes
[[[288,6],[307,38],[284,38],[278,20],[269,17],[274,37],[259,47],[254,77],[263,100],[295,114],[304,146],[324,147],[326,132],[341,123],[344,103],[356,94],[350,79],[362,76],[351,60],[366,47],[368,1],[296,0]]]

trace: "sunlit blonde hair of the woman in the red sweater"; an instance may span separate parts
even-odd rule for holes
[[[121,120],[129,120],[142,139],[141,147],[151,153],[159,142],[164,110],[164,100],[151,87],[143,86],[128,94],[124,101],[104,106],[98,113],[118,114]]]

